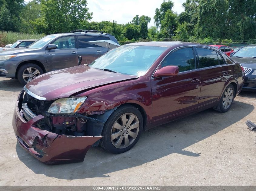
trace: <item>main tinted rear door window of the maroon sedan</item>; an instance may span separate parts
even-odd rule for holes
[[[215,50],[196,48],[199,56],[199,68],[219,65],[219,58]]]

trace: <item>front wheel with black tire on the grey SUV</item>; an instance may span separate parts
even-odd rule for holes
[[[26,85],[28,82],[33,80],[35,77],[43,74],[43,70],[40,66],[32,63],[22,65],[17,72],[18,81],[22,85]]]

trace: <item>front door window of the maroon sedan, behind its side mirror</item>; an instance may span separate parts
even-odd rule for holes
[[[179,72],[195,69],[195,59],[192,47],[181,48],[170,53],[161,64],[161,67],[164,66],[178,66]]]

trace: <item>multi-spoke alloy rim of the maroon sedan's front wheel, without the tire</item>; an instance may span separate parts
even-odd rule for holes
[[[138,117],[133,113],[121,115],[111,129],[111,142],[116,148],[126,148],[134,142],[140,128]]]

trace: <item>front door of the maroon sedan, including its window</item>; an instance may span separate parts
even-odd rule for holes
[[[171,52],[159,67],[176,65],[179,74],[151,79],[153,125],[196,111],[200,97],[200,72],[195,51],[185,47]]]

